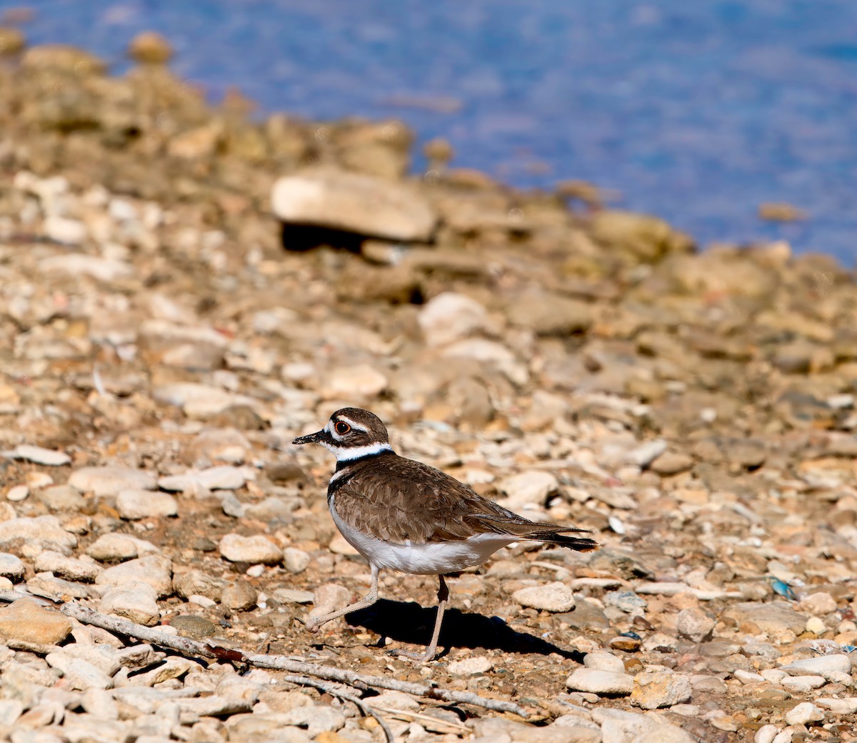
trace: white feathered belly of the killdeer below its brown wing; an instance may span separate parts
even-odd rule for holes
[[[425,542],[393,544],[363,534],[345,523],[336,512],[335,496],[330,501],[330,514],[345,541],[369,561],[369,565],[419,575],[438,575],[482,565],[501,547],[518,540],[501,534],[480,534],[460,542]]]

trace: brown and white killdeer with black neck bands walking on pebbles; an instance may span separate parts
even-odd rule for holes
[[[336,456],[327,485],[327,507],[345,540],[369,562],[369,593],[360,601],[307,622],[310,632],[343,614],[378,600],[382,568],[437,575],[437,618],[424,653],[393,651],[428,662],[437,655],[440,624],[449,598],[444,575],[482,565],[512,542],[534,540],[587,552],[596,542],[573,526],[529,521],[482,498],[434,467],[393,452],[387,428],[369,410],[342,408],[321,431],[299,436],[295,444],[321,444]]]

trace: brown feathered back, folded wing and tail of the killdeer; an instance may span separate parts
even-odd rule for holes
[[[572,549],[596,548],[590,539],[566,536],[584,530],[521,518],[428,464],[395,455],[384,464],[383,476],[357,470],[335,495],[340,518],[380,539],[420,544],[494,533]]]

